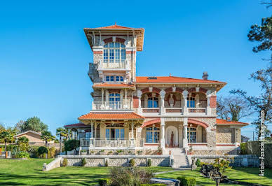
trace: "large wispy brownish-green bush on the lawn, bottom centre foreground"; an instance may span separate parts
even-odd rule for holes
[[[139,167],[113,167],[109,170],[111,185],[140,185],[149,183],[153,173]]]

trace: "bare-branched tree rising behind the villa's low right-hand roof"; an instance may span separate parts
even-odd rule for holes
[[[247,101],[240,96],[219,96],[217,100],[217,115],[224,120],[231,117],[232,121],[239,121],[243,117],[252,115],[252,113],[253,111],[250,110]]]

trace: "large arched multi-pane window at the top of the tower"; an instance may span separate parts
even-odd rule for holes
[[[125,62],[125,45],[117,42],[104,45],[103,60],[105,63]]]

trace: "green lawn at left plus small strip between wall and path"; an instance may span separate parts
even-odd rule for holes
[[[41,171],[43,163],[52,159],[0,159],[0,185],[94,185],[106,178],[107,167],[67,166]],[[150,167],[154,172],[169,171],[170,167]]]

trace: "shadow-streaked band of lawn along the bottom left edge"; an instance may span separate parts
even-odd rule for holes
[[[0,173],[0,180],[7,180],[1,182],[1,185],[93,185],[101,178],[106,178],[106,175],[88,175],[88,173],[57,175],[57,173],[43,173],[42,171],[39,175]]]

